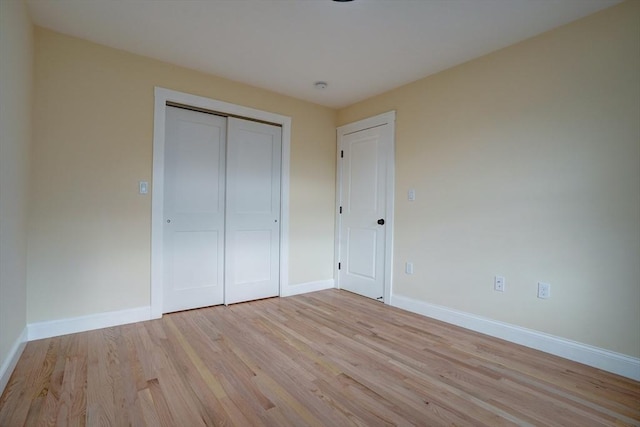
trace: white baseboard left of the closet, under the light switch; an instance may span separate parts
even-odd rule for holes
[[[71,317],[68,319],[30,323],[27,325],[27,329],[29,331],[29,341],[33,341],[42,338],[57,337],[59,335],[74,334],[76,332],[126,325],[127,323],[142,322],[150,319],[150,307],[137,307],[127,310]]]

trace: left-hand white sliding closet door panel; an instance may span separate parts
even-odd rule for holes
[[[226,118],[167,107],[163,312],[224,302]]]

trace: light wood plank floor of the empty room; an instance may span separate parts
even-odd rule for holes
[[[22,425],[640,425],[640,383],[328,290],[30,342]]]

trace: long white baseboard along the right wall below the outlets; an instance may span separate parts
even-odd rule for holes
[[[640,381],[640,359],[463,311],[392,295],[391,305]]]

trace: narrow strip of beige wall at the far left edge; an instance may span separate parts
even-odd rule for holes
[[[0,58],[0,366],[2,366],[8,360],[11,348],[27,324],[26,217],[31,144],[33,27],[22,0],[0,1]]]

